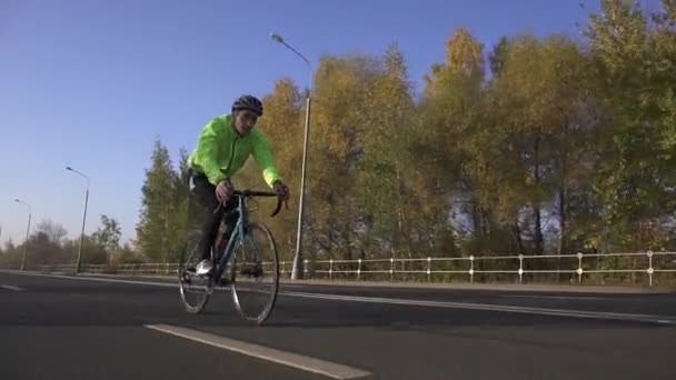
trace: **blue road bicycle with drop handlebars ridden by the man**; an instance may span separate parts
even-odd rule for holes
[[[241,318],[261,324],[269,318],[277,300],[279,258],[277,243],[270,230],[262,222],[249,220],[248,202],[256,197],[278,197],[278,194],[268,191],[235,190],[232,196],[237,199],[238,206],[231,211],[223,212],[220,220],[219,234],[211,247],[213,267],[209,273],[196,272],[200,260],[198,247],[203,238],[201,230],[187,234],[178,268],[180,296],[188,312],[199,313],[207,306],[215,288],[229,286],[232,302]],[[277,208],[271,217],[277,216],[281,204],[282,200],[278,197]],[[222,203],[219,208],[221,207]],[[218,209],[215,212],[217,211]],[[237,223],[226,242],[222,227],[225,221],[232,220],[231,218],[237,218]],[[269,289],[267,291],[254,289],[265,281],[266,276],[269,277]],[[191,300],[192,294],[196,294],[196,300]],[[250,302],[245,296],[262,298],[260,310],[251,311]]]

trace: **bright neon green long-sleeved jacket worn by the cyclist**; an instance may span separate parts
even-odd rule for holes
[[[262,178],[270,188],[281,180],[262,133],[254,128],[249,134],[241,137],[232,124],[232,117],[225,114],[211,119],[201,130],[197,147],[188,157],[188,164],[217,184],[222,179],[232,178],[249,156],[254,156],[258,162]]]

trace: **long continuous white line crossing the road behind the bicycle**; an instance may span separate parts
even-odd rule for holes
[[[168,282],[131,281],[131,280],[118,280],[118,279],[108,279],[108,278],[70,277],[70,276],[26,273],[26,272],[17,272],[17,273],[27,274],[27,276],[51,277],[51,278],[59,278],[59,279],[67,279],[67,280],[71,279],[71,280],[83,280],[83,281],[119,282],[119,283],[156,286],[156,287],[169,287],[169,288],[178,289],[178,283],[168,283]],[[309,292],[295,292],[295,291],[279,291],[279,294],[288,296],[288,297],[301,297],[301,298],[312,298],[312,299],[335,300],[335,301],[389,303],[389,304],[421,306],[421,307],[433,307],[433,308],[451,308],[451,309],[467,309],[467,310],[516,312],[516,313],[536,314],[536,316],[539,314],[539,316],[555,316],[555,317],[568,317],[568,318],[650,322],[650,323],[659,323],[659,324],[676,324],[676,317],[672,317],[672,316],[630,314],[630,313],[599,312],[599,311],[569,310],[569,309],[547,309],[547,308],[533,308],[533,307],[520,307],[520,306],[505,306],[505,304],[495,304],[495,303],[418,301],[418,300],[397,299],[397,298],[379,298],[379,297],[364,297],[364,296],[357,297],[357,296],[340,296],[340,294],[309,293]]]

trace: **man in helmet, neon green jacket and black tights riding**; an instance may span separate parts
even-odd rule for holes
[[[258,118],[262,116],[262,103],[249,94],[241,96],[232,103],[230,114],[211,119],[201,130],[197,147],[188,158],[190,192],[205,207],[202,222],[205,239],[200,242],[200,262],[198,274],[206,274],[212,269],[210,249],[218,233],[223,212],[237,207],[232,200],[231,178],[241,169],[250,156],[256,159],[266,183],[275,189],[285,201],[289,198],[288,187],[275,166],[268,141],[255,129]],[[220,203],[223,207],[215,212]],[[230,237],[237,220],[226,220],[225,239]]]

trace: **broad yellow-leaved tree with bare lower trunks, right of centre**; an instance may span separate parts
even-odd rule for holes
[[[590,176],[594,156],[590,142],[595,126],[589,124],[592,104],[588,59],[581,49],[563,36],[536,40],[529,36],[513,39],[500,50],[499,77],[493,82],[496,112],[515,172],[508,187],[520,198],[508,209],[531,210],[529,236],[535,253],[543,253],[543,218],[558,219],[558,252],[566,249],[568,227],[567,194],[584,186]],[[577,163],[577,164],[575,164]],[[553,230],[556,231],[556,230]]]

